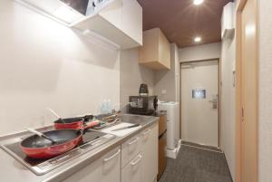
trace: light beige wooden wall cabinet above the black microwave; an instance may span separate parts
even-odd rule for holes
[[[139,62],[153,70],[170,69],[170,43],[160,28],[143,32]]]

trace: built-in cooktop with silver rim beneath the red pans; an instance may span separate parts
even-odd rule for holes
[[[2,145],[1,148],[5,149],[11,156],[24,164],[25,167],[29,168],[36,175],[44,175],[54,168],[58,168],[63,164],[82,156],[84,153],[97,148],[102,144],[114,139],[115,136],[111,134],[102,133],[101,131],[96,131],[88,129],[83,134],[83,142],[81,142],[76,148],[54,157],[47,159],[37,159],[27,157],[22,149],[20,148],[20,143],[23,139],[15,139],[15,142],[10,142]]]

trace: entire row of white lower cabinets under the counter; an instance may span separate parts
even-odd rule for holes
[[[158,175],[158,123],[125,141],[63,182],[154,182]],[[122,164],[122,165],[121,165]]]

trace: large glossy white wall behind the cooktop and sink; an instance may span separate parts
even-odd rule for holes
[[[36,14],[0,1],[0,135],[95,113],[120,101],[119,52]]]

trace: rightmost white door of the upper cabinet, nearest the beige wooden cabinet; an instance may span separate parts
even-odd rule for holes
[[[121,30],[142,44],[142,7],[137,0],[122,0]]]

